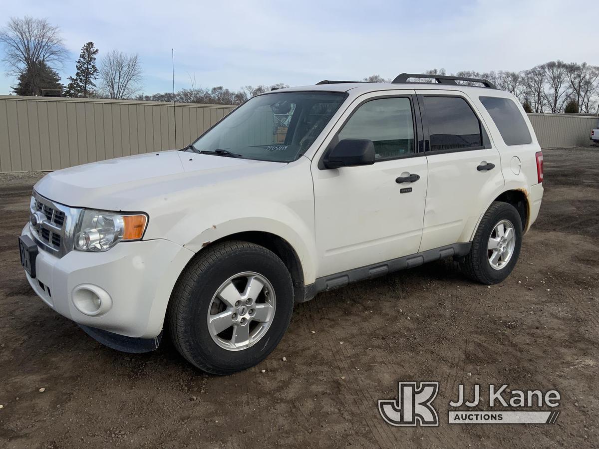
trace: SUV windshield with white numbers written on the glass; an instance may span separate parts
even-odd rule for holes
[[[198,138],[187,151],[291,162],[305,153],[345,98],[341,92],[256,96]]]

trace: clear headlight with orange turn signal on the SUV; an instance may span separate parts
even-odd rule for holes
[[[75,232],[75,250],[107,251],[120,241],[139,240],[146,230],[145,214],[84,210]]]

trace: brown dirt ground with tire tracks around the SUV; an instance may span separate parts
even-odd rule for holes
[[[599,149],[544,150],[544,163],[540,217],[506,281],[437,262],[322,293],[267,360],[229,377],[168,341],[102,347],[44,305],[17,250],[36,175],[0,178],[0,447],[598,447]],[[439,427],[382,420],[377,399],[398,381],[440,382]],[[556,389],[561,414],[448,424],[461,383]]]

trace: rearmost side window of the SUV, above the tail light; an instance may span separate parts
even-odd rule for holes
[[[495,122],[506,145],[524,145],[533,141],[518,106],[509,98],[479,96],[489,116]]]

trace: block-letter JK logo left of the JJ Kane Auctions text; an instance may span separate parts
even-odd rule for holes
[[[379,400],[379,412],[392,426],[438,426],[439,417],[431,402],[437,397],[438,382],[400,382],[397,401]]]

